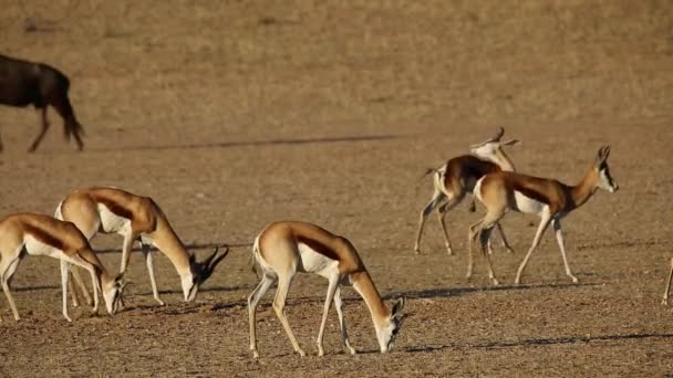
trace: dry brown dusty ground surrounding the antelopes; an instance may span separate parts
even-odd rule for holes
[[[58,262],[27,258],[13,280],[22,319],[0,301],[0,376],[672,374],[673,314],[660,305],[673,255],[672,30],[670,1],[4,1],[0,49],[68,73],[87,135],[75,153],[52,114],[29,155],[38,115],[0,107],[0,212],[51,213],[75,188],[114,185],[152,196],[198,255],[234,248],[188,304],[159,254],[165,307],[136,253],[128,308],[75,308],[72,324],[60,314]],[[494,256],[499,287],[483,264],[464,280],[480,210],[448,214],[456,255],[434,217],[423,253],[412,252],[432,191],[421,174],[498,125],[524,140],[509,149],[520,171],[569,183],[612,145],[621,190],[598,192],[565,222],[577,285],[551,233],[526,284],[511,285],[531,217],[504,221],[516,253]],[[268,297],[262,357],[251,358],[249,244],[280,219],[346,235],[386,298],[408,298],[393,353],[376,353],[366,308],[346,288],[359,354],[340,345],[332,313],[317,357],[327,283],[301,276],[288,313],[311,355],[292,353]],[[117,267],[120,253],[102,256]]]

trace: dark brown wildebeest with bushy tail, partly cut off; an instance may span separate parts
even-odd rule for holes
[[[84,129],[75,118],[75,112],[68,98],[70,80],[61,71],[44,63],[34,63],[0,54],[0,104],[9,106],[33,105],[42,113],[42,130],[28,149],[38,149],[42,141],[49,120],[46,107],[53,106],[63,118],[63,132],[70,140],[74,137],[77,148],[84,147],[82,135]],[[2,139],[0,139],[0,151]]]

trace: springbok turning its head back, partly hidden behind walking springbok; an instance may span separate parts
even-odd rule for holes
[[[460,203],[463,198],[465,198],[465,193],[473,193],[475,182],[484,177],[484,175],[501,170],[515,170],[514,164],[501,147],[517,145],[519,140],[511,139],[500,141],[503,135],[505,135],[505,129],[499,127],[496,135],[490,139],[470,146],[470,153],[473,155],[462,155],[455,157],[449,159],[441,168],[428,170],[426,175],[434,172],[434,192],[431,201],[423,209],[423,211],[421,211],[418,231],[416,232],[416,243],[414,245],[414,251],[416,253],[421,252],[421,235],[423,234],[425,219],[431,212],[433,212],[433,210],[436,209],[437,219],[439,220],[439,224],[442,224],[442,231],[444,231],[446,252],[448,254],[453,254],[448,231],[446,230],[446,222],[444,220],[446,212],[453,209],[456,204]],[[470,206],[470,211],[474,211],[474,199]],[[509,252],[512,252],[509,243],[507,242],[505,233],[503,232],[503,228],[499,223],[497,223],[497,227],[500,231],[500,237],[503,238],[503,245]],[[490,250],[490,243],[488,244],[488,249],[489,252],[493,252]]]

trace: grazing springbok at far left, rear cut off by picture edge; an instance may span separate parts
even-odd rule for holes
[[[63,316],[68,322],[72,322],[68,314],[68,270],[71,264],[82,266],[91,273],[94,283],[93,313],[99,312],[99,288],[103,292],[107,313],[114,315],[117,311],[124,291],[123,275],[112,276],[107,273],[86,238],[73,223],[43,214],[15,213],[0,221],[0,282],[14,319],[19,321],[20,317],[9,290],[9,281],[25,252],[61,261]]]

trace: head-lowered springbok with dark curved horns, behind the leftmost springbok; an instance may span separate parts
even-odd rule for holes
[[[194,254],[187,252],[168,219],[152,198],[135,196],[117,188],[92,187],[76,190],[59,203],[55,217],[75,223],[87,240],[97,232],[118,233],[124,237],[121,273],[126,272],[131,249],[137,240],[145,255],[152,293],[162,306],[165,302],[159,298],[156,287],[151,245],[162,251],[175,266],[180,276],[186,302],[194,301],[199,285],[229,253],[228,248],[221,253],[219,248],[216,248],[206,260],[197,262]],[[86,292],[76,271],[72,272],[80,288]]]

